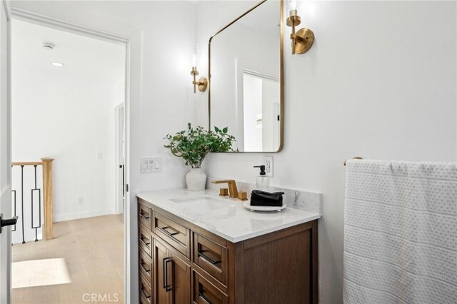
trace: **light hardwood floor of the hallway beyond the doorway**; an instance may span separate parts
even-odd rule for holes
[[[12,304],[124,303],[123,215],[54,223],[54,239],[13,246],[13,263],[53,258],[71,283],[39,285],[38,275],[39,286],[13,288]]]

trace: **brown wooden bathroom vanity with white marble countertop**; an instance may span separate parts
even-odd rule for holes
[[[318,213],[211,191],[138,195],[141,303],[318,303]]]

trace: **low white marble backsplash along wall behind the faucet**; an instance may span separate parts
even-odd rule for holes
[[[228,188],[228,185],[211,183],[211,181],[220,179],[223,178],[208,177],[206,180],[206,188],[216,191],[219,191],[219,188]],[[236,188],[238,188],[238,191],[246,191],[249,198],[251,196],[251,191],[256,189],[256,184],[236,181]],[[284,193],[283,202],[287,204],[287,207],[322,214],[322,193],[293,190],[274,186],[268,187],[268,192],[278,191],[282,191]]]

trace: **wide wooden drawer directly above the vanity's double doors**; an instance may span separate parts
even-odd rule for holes
[[[187,258],[190,258],[190,230],[154,211],[153,231]]]

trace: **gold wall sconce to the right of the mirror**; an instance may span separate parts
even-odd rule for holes
[[[305,54],[314,42],[314,33],[311,29],[299,29],[295,32],[295,27],[301,24],[301,18],[297,13],[297,0],[287,0],[289,16],[286,24],[291,26],[292,34],[292,54]]]

